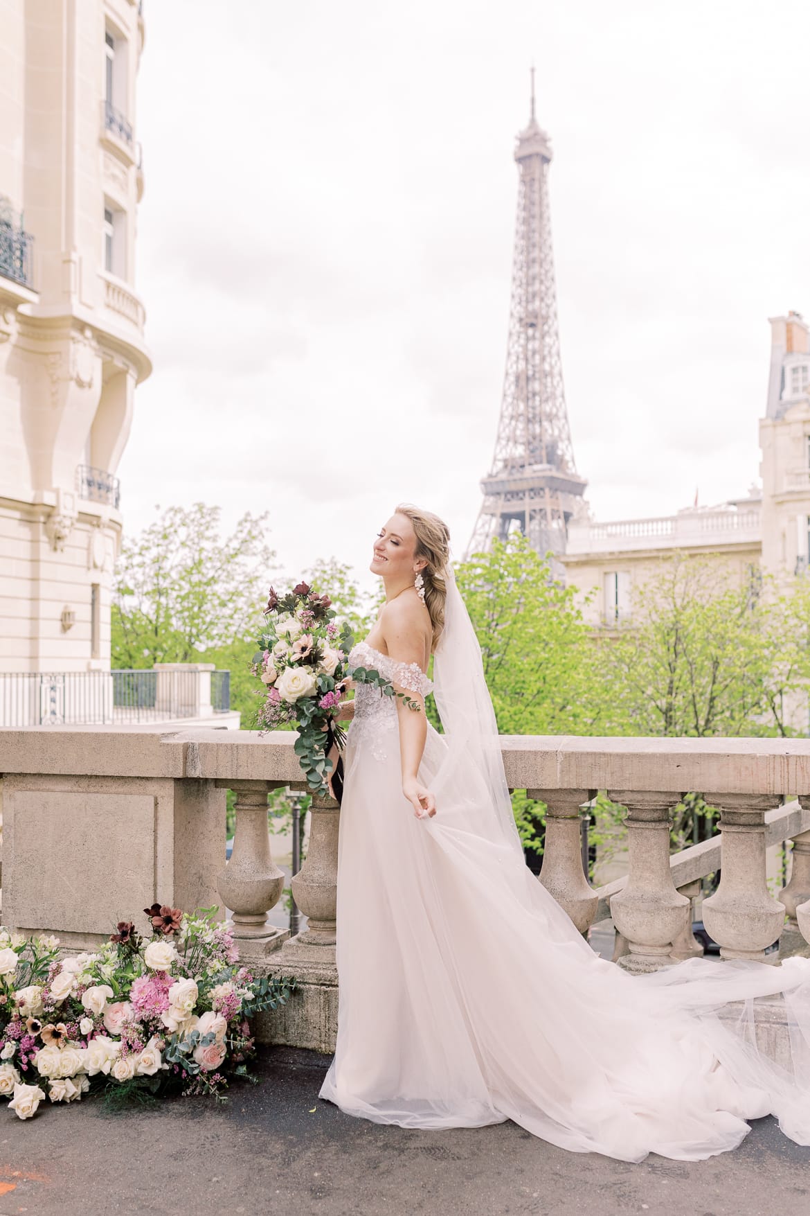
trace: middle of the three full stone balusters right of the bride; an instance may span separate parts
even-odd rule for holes
[[[613,923],[629,951],[624,970],[655,972],[673,962],[673,942],[684,930],[689,900],[679,895],[669,869],[669,820],[675,796],[648,790],[611,790],[627,806],[629,874],[611,899]]]

